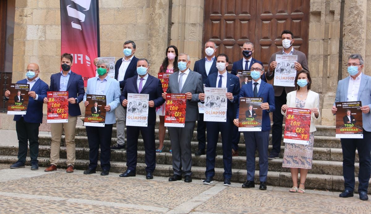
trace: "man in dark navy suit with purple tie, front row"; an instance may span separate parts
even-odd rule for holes
[[[162,98],[161,81],[148,74],[147,59],[139,59],[137,62],[138,76],[127,79],[124,90],[120,96],[120,103],[123,107],[128,105],[128,93],[133,94],[149,94],[148,101],[148,126],[127,126],[127,162],[128,169],[120,175],[120,177],[135,176],[137,168],[137,150],[139,131],[142,134],[145,150],[145,164],[147,167],[146,178],[153,179],[153,171],[156,167],[156,148],[155,148],[155,123],[156,123],[156,107],[161,106],[165,100]]]

